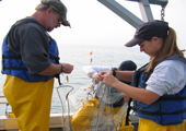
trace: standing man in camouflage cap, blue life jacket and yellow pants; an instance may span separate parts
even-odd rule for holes
[[[20,131],[48,131],[54,78],[71,73],[59,62],[58,46],[47,32],[70,26],[60,0],[42,0],[35,12],[13,24],[2,44],[3,94]],[[59,81],[60,84],[60,81]]]

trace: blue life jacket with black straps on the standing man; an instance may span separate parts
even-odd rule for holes
[[[11,27],[10,32],[16,25],[24,24],[24,23],[35,23],[35,24],[39,25],[33,19],[24,19],[18,23],[19,24],[14,24]],[[44,29],[44,27],[42,27],[42,28]],[[46,31],[44,29],[44,32],[46,32]],[[8,44],[7,44],[8,35],[4,37],[3,44],[2,44],[2,70],[1,70],[2,74],[10,74],[13,76],[18,76],[18,78],[20,78],[24,81],[27,81],[27,82],[39,82],[39,81],[47,82],[48,80],[50,80],[55,76],[59,79],[59,74],[48,75],[48,76],[39,75],[39,74],[30,74],[26,64],[23,63],[23,61],[22,61],[21,56],[15,56],[12,51],[9,50]],[[46,35],[47,35],[47,33],[46,33]],[[50,43],[49,60],[53,63],[59,63],[59,57],[58,57],[59,52],[58,52],[57,44],[53,38],[49,37],[49,35],[47,35],[47,37]]]

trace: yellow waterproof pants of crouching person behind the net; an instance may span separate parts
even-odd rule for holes
[[[71,119],[73,131],[91,131],[91,124],[95,122],[97,114],[105,114],[107,119],[112,118],[112,107],[106,107],[106,109],[103,111],[97,109],[98,104],[100,102],[96,98],[91,98],[89,102],[85,102],[75,114],[73,114]],[[123,118],[123,115],[126,112],[126,108],[124,106],[114,108],[113,111],[114,123],[115,127],[117,127],[117,131],[133,131],[133,126],[131,126],[131,123],[129,126],[125,126],[125,117]],[[105,121],[105,118],[103,121]]]

